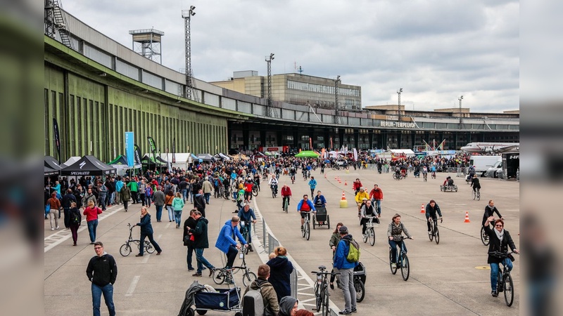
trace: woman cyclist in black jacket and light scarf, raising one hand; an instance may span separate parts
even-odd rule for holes
[[[489,223],[493,221],[495,222],[495,228],[491,230]],[[487,263],[491,265],[491,295],[493,297],[498,296],[497,275],[498,275],[499,263],[505,265],[510,271],[512,270],[512,261],[510,261],[509,258],[498,258],[496,256],[493,256],[491,254],[491,251],[507,252],[508,247],[510,247],[512,251],[514,251],[516,254],[519,254],[518,249],[516,249],[516,246],[512,241],[512,237],[510,237],[510,233],[508,232],[508,230],[505,230],[504,227],[505,227],[505,222],[500,218],[495,220],[495,216],[489,216],[485,221],[485,232],[488,235],[489,240],[491,241],[488,244],[489,255],[487,258]]]

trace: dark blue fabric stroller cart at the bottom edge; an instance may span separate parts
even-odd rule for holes
[[[220,312],[234,311],[235,316],[242,316],[241,288],[235,286],[232,289],[213,289],[208,285],[199,284],[194,281],[186,291],[184,302],[178,316],[205,315],[208,310]]]

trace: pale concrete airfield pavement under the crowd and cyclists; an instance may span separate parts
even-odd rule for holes
[[[293,197],[289,213],[281,210],[281,197],[272,199],[270,188],[261,184],[261,192],[253,200],[260,217],[265,219],[272,235],[289,251],[289,258],[299,270],[298,298],[301,308],[312,310],[311,271],[319,265],[331,267],[329,239],[342,222],[350,230],[361,246],[360,261],[367,270],[365,299],[358,303],[357,315],[512,315],[519,312],[521,282],[519,257],[514,262],[514,303],[505,305],[502,293],[498,298],[491,296],[490,270],[488,270],[487,249],[479,237],[483,210],[489,199],[495,201],[500,213],[505,218],[505,228],[511,232],[519,248],[519,183],[498,179],[481,179],[481,201],[474,201],[471,188],[463,178],[450,174],[458,186],[458,192],[441,192],[439,186],[448,173],[437,173],[436,179],[429,177],[424,183],[422,178],[415,178],[412,173],[406,179],[393,180],[391,173],[377,173],[375,169],[353,168],[348,171],[326,169],[327,178],[320,174],[320,169],[312,171],[317,180],[317,190],[327,198],[327,213],[330,229],[327,225],[311,230],[310,240],[301,237],[299,214],[296,205],[304,194],[310,195],[308,180],[303,180],[301,173],[296,175],[296,183],[291,184],[289,176],[280,177],[280,187],[284,183],[291,187]],[[342,183],[334,180],[340,176]],[[355,206],[352,183],[360,178],[367,190],[372,190],[375,183],[384,192],[381,224],[375,228],[376,243],[370,246],[363,243]],[[347,185],[344,185],[344,183]],[[342,192],[348,200],[348,208],[341,209],[339,202]],[[430,199],[436,200],[443,213],[440,228],[440,244],[430,242],[426,233],[426,218],[420,213],[421,204]],[[115,283],[113,299],[118,315],[177,315],[184,294],[194,280],[213,287],[217,286],[208,277],[208,270],[203,270],[203,277],[192,277],[186,267],[186,247],[182,246],[182,230],[175,228],[175,223],[168,222],[167,212],[163,212],[162,223],[156,223],[156,211],[151,206],[154,237],[163,248],[161,256],[145,254],[142,258],[134,257],[135,252],[127,257],[119,254],[119,247],[128,237],[127,223],[137,223],[140,216],[140,204],[129,206],[125,213],[122,206],[112,206],[104,212],[103,220],[98,225],[98,239],[104,243],[105,250],[112,254],[118,263],[118,279]],[[182,222],[188,216],[191,204],[184,206]],[[235,205],[230,200],[211,198],[206,215],[210,248],[204,256],[216,267],[224,265],[224,256],[215,248],[215,241],[220,228],[232,217]],[[465,212],[469,212],[471,223],[464,223]],[[410,259],[410,278],[403,281],[400,271],[392,275],[388,264],[388,243],[386,230],[393,214],[399,213],[410,231],[413,240],[406,241]],[[63,218],[61,218],[62,220]],[[49,220],[45,220],[45,263],[44,263],[44,299],[46,315],[77,315],[91,312],[90,284],[85,276],[89,258],[94,256],[93,246],[89,244],[87,229],[79,230],[78,245],[72,246],[70,231],[51,231]],[[60,226],[64,227],[62,223]],[[84,223],[81,229],[84,227]],[[261,235],[262,225],[255,230]],[[139,230],[134,229],[134,238],[139,237]],[[253,236],[255,251],[246,256],[246,263],[253,272],[258,265],[267,260],[267,254],[260,253],[261,236]],[[193,258],[196,265],[195,256]],[[235,265],[239,263],[237,259]],[[305,275],[303,275],[305,274]],[[236,285],[243,287],[240,272],[235,275]],[[331,306],[334,312],[343,308],[343,296],[336,287],[330,291]],[[107,308],[101,303],[102,315],[107,315]],[[312,310],[313,311],[313,310]],[[105,312],[105,314],[104,314]],[[313,311],[315,312],[315,311]],[[234,312],[231,312],[234,314]],[[315,314],[318,314],[315,312]],[[224,312],[210,310],[206,315],[224,315]]]

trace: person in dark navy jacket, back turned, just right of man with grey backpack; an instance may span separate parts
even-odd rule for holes
[[[289,276],[293,271],[293,265],[286,257],[287,249],[285,247],[277,247],[274,249],[274,254],[276,254],[276,256],[270,259],[266,264],[270,266],[270,277],[268,281],[276,290],[279,302],[282,297],[291,295]]]

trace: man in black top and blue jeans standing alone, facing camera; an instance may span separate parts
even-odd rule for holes
[[[100,315],[101,294],[108,305],[110,316],[115,316],[113,305],[113,284],[118,277],[118,265],[113,256],[103,251],[101,242],[94,242],[96,256],[90,259],[86,275],[91,285],[92,305],[94,305],[94,316]]]

